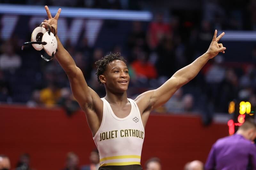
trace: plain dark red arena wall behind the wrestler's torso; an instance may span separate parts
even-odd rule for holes
[[[0,154],[15,167],[21,153],[29,153],[36,170],[65,166],[67,152],[75,152],[79,165],[89,163],[95,148],[82,111],[68,117],[60,108],[27,108],[0,105]],[[159,157],[163,169],[183,169],[191,160],[206,161],[212,144],[228,135],[227,124],[203,126],[197,116],[150,115],[141,155],[141,165]]]

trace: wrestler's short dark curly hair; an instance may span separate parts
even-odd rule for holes
[[[114,60],[121,60],[123,62],[126,62],[126,60],[124,60],[124,57],[122,57],[121,53],[119,53],[119,52],[118,53],[110,53],[109,55],[106,55],[103,58],[101,58],[100,60],[95,62],[96,67],[97,67],[97,72],[95,74],[97,75],[98,82],[100,84],[102,84],[102,83],[100,82],[99,76],[105,72],[105,70],[107,69],[107,65]]]

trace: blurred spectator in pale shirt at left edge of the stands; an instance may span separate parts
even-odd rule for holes
[[[2,51],[3,54],[0,55],[0,69],[14,73],[21,66],[21,58],[15,54],[11,41],[4,43]]]

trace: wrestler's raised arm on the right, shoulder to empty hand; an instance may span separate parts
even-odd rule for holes
[[[150,90],[139,95],[135,101],[140,108],[141,114],[144,111],[152,110],[166,103],[172,95],[183,85],[187,84],[190,80],[196,77],[205,63],[218,53],[225,53],[225,47],[218,44],[218,41],[225,33],[221,33],[217,37],[217,30],[215,30],[212,42],[203,55],[198,57],[193,63],[178,70],[169,80],[155,90]]]

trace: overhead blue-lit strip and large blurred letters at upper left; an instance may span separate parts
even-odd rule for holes
[[[49,9],[52,16],[55,16],[59,7],[50,6]],[[76,45],[82,36],[87,39],[89,46],[94,46],[105,20],[123,22],[150,21],[152,19],[152,14],[148,11],[100,10],[68,7],[61,7],[61,9],[62,11],[58,20],[58,36],[64,45],[68,39],[72,44]],[[13,34],[19,35],[21,38],[28,33],[31,34],[44,19],[48,19],[44,6],[0,4],[1,39],[8,40]]]

